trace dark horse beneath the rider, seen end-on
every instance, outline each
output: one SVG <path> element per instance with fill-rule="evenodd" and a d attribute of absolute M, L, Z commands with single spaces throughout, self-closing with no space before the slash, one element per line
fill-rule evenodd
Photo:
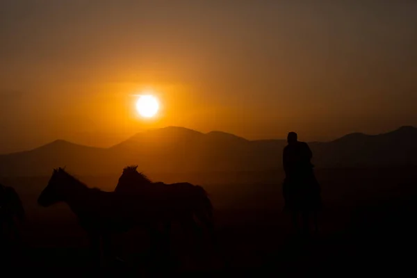
<path fill-rule="evenodd" d="M 317 213 L 322 206 L 320 185 L 313 170 L 301 172 L 292 179 L 285 179 L 283 184 L 285 211 L 290 211 L 295 229 L 299 229 L 298 218 L 302 218 L 302 230 L 309 233 L 309 218 L 313 216 L 314 228 L 317 233 Z"/>

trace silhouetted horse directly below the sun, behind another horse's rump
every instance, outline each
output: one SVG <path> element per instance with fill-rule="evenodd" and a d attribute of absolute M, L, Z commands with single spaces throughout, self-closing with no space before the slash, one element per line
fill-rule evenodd
<path fill-rule="evenodd" d="M 186 231 L 197 231 L 200 222 L 214 239 L 213 206 L 204 188 L 191 183 L 154 183 L 137 168 L 124 168 L 115 193 L 146 196 L 153 206 L 168 211 L 168 218 L 162 220 L 165 232 L 170 231 L 172 221 L 179 222 Z"/>

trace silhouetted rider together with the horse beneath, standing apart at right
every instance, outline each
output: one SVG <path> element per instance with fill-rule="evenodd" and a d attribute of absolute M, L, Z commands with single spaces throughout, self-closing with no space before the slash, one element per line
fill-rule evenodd
<path fill-rule="evenodd" d="M 295 229 L 298 229 L 298 216 L 301 213 L 303 230 L 308 233 L 309 213 L 316 213 L 321 203 L 320 186 L 314 177 L 314 165 L 311 164 L 313 154 L 306 142 L 297 140 L 297 133 L 288 133 L 287 140 L 288 145 L 283 153 L 285 209 L 291 211 Z"/>

